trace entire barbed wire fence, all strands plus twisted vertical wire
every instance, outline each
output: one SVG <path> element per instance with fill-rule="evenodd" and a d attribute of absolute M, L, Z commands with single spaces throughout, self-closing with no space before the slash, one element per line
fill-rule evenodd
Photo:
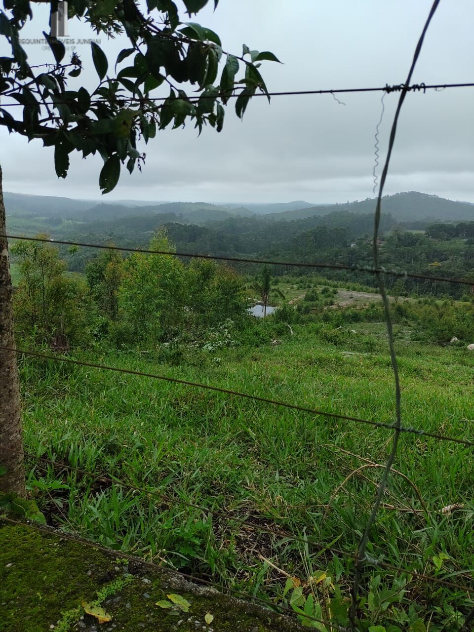
<path fill-rule="evenodd" d="M 110 476 L 108 474 L 104 475 L 102 473 L 92 473 L 91 471 L 73 467 L 68 463 L 61 463 L 59 461 L 55 461 L 54 459 L 45 458 L 43 456 L 39 456 L 38 454 L 30 453 L 28 451 L 23 451 L 22 453 L 20 453 L 18 451 L 12 450 L 8 446 L 0 446 L 1 449 L 7 450 L 7 451 L 9 450 L 13 452 L 18 452 L 19 456 L 20 454 L 23 454 L 23 456 L 33 459 L 37 461 L 40 464 L 40 466 L 44 468 L 47 468 L 47 466 L 54 465 L 58 468 L 62 468 L 63 470 L 75 472 L 76 474 L 86 475 L 87 477 L 97 476 L 97 478 L 100 478 L 101 480 L 105 480 L 111 485 L 118 485 L 119 487 L 122 487 L 124 489 L 130 489 L 130 490 L 133 490 L 134 492 L 143 494 L 146 497 L 159 499 L 159 501 L 164 502 L 168 506 L 173 506 L 175 504 L 178 504 L 180 506 L 197 509 L 198 511 L 203 511 L 209 515 L 212 515 L 214 518 L 219 518 L 220 520 L 224 520 L 224 521 L 233 521 L 234 523 L 244 525 L 246 528 L 253 530 L 255 532 L 263 532 L 263 533 L 267 533 L 268 535 L 272 535 L 273 537 L 286 538 L 286 540 L 300 542 L 300 544 L 304 544 L 308 547 L 311 547 L 312 549 L 317 549 L 322 552 L 328 552 L 328 553 L 334 554 L 335 556 L 341 556 L 348 560 L 353 561 L 355 573 L 354 573 L 353 584 L 351 586 L 351 606 L 349 609 L 349 619 L 351 622 L 350 632 L 358 631 L 357 611 L 358 611 L 358 605 L 360 602 L 360 585 L 362 581 L 363 569 L 365 568 L 365 566 L 369 566 L 372 568 L 384 568 L 390 571 L 401 573 L 407 577 L 415 578 L 420 581 L 432 582 L 437 585 L 446 586 L 446 588 L 451 588 L 453 590 L 459 590 L 460 592 L 474 595 L 474 586 L 471 587 L 467 585 L 461 585 L 459 583 L 445 580 L 445 579 L 436 577 L 434 575 L 418 573 L 417 571 L 414 571 L 413 569 L 407 569 L 407 568 L 403 568 L 399 566 L 394 566 L 392 564 L 384 562 L 383 559 L 375 559 L 374 557 L 368 556 L 367 554 L 367 546 L 369 542 L 370 532 L 372 530 L 372 527 L 375 523 L 375 518 L 382 504 L 382 499 L 386 491 L 387 483 L 389 481 L 389 476 L 394 471 L 392 466 L 398 454 L 399 437 L 401 436 L 401 434 L 405 433 L 405 434 L 413 434 L 419 437 L 430 437 L 437 441 L 452 442 L 454 444 L 463 445 L 466 447 L 474 446 L 474 441 L 471 441 L 470 439 L 466 437 L 452 437 L 452 436 L 441 434 L 441 433 L 428 432 L 426 430 L 423 430 L 423 428 L 405 427 L 402 424 L 401 389 L 400 389 L 399 374 L 398 374 L 398 362 L 397 362 L 397 356 L 396 356 L 396 349 L 394 346 L 391 313 L 390 313 L 390 308 L 389 308 L 389 299 L 387 297 L 387 291 L 384 284 L 384 276 L 424 279 L 424 280 L 432 281 L 432 282 L 437 281 L 437 282 L 446 282 L 446 283 L 455 283 L 455 284 L 465 284 L 465 285 L 471 286 L 471 288 L 474 288 L 474 282 L 469 279 L 453 279 L 453 278 L 446 278 L 446 277 L 441 277 L 441 276 L 418 274 L 418 273 L 413 273 L 413 272 L 408 272 L 408 271 L 385 269 L 384 267 L 380 265 L 380 261 L 379 261 L 378 239 L 379 239 L 379 225 L 380 225 L 380 216 L 381 216 L 382 195 L 383 195 L 384 185 L 386 183 L 387 174 L 389 171 L 389 163 L 391 159 L 392 149 L 394 147 L 394 142 L 396 138 L 399 113 L 401 111 L 401 107 L 403 106 L 403 102 L 406 95 L 408 94 L 408 92 L 415 92 L 415 91 L 420 91 L 420 90 L 423 92 L 426 92 L 426 90 L 429 90 L 429 89 L 439 90 L 442 88 L 473 87 L 474 86 L 474 83 L 456 83 L 456 84 L 447 83 L 444 85 L 443 84 L 425 85 L 424 83 L 413 84 L 413 85 L 411 84 L 411 77 L 413 75 L 413 70 L 415 68 L 416 61 L 422 49 L 425 33 L 427 32 L 430 21 L 432 20 L 432 17 L 434 16 L 434 13 L 438 5 L 439 5 L 439 0 L 434 0 L 434 3 L 432 4 L 432 8 L 430 9 L 430 13 L 427 18 L 427 21 L 425 22 L 425 25 L 423 27 L 422 34 L 420 35 L 420 39 L 418 40 L 418 43 L 416 45 L 415 54 L 413 56 L 410 71 L 408 73 L 405 83 L 402 83 L 400 85 L 395 85 L 392 87 L 390 87 L 389 85 L 386 85 L 386 87 L 383 87 L 383 88 L 301 90 L 301 91 L 293 91 L 293 92 L 270 93 L 270 95 L 332 94 L 334 96 L 334 94 L 344 93 L 344 92 L 383 92 L 382 99 L 386 94 L 389 94 L 390 92 L 400 93 L 398 106 L 396 108 L 396 113 L 394 115 L 394 120 L 392 123 L 386 161 L 384 164 L 384 168 L 382 170 L 382 175 L 380 177 L 380 186 L 379 186 L 377 204 L 376 204 L 376 209 L 375 209 L 374 238 L 373 238 L 374 265 L 372 267 L 357 266 L 357 265 L 327 264 L 324 262 L 319 263 L 319 262 L 272 261 L 272 260 L 264 260 L 264 259 L 253 259 L 253 258 L 227 257 L 227 256 L 202 254 L 202 253 L 167 252 L 167 251 L 161 251 L 161 250 L 151 250 L 151 249 L 146 249 L 146 248 L 133 248 L 133 247 L 126 247 L 126 246 L 82 243 L 78 241 L 50 240 L 50 239 L 42 238 L 39 236 L 23 236 L 23 235 L 16 235 L 16 234 L 4 235 L 4 237 L 8 238 L 8 240 L 27 240 L 27 241 L 35 241 L 35 242 L 40 242 L 40 243 L 48 243 L 49 245 L 52 245 L 52 244 L 70 245 L 70 246 L 81 246 L 81 247 L 86 247 L 86 248 L 116 250 L 120 252 L 152 253 L 152 254 L 157 254 L 157 255 L 171 255 L 174 257 L 183 257 L 183 258 L 204 258 L 204 259 L 226 261 L 226 262 L 240 262 L 240 263 L 246 263 L 246 264 L 283 265 L 283 266 L 288 266 L 288 267 L 300 267 L 300 268 L 306 268 L 306 269 L 347 270 L 349 272 L 360 271 L 360 272 L 367 272 L 369 274 L 374 274 L 375 279 L 377 280 L 377 283 L 379 285 L 379 293 L 382 298 L 382 304 L 384 307 L 384 313 L 386 317 L 387 340 L 389 344 L 389 352 L 390 352 L 390 357 L 391 357 L 392 373 L 394 375 L 394 397 L 395 397 L 396 421 L 393 423 L 384 423 L 384 422 L 379 422 L 377 420 L 370 420 L 370 419 L 359 418 L 355 416 L 337 414 L 331 411 L 317 410 L 314 408 L 310 408 L 308 406 L 303 406 L 301 404 L 293 404 L 293 403 L 289 403 L 288 401 L 279 401 L 276 399 L 264 398 L 262 396 L 257 396 L 254 394 L 250 394 L 248 392 L 233 391 L 231 389 L 225 389 L 222 387 L 212 386 L 210 384 L 203 384 L 200 382 L 191 382 L 189 380 L 176 379 L 174 377 L 169 377 L 167 375 L 157 375 L 157 374 L 152 374 L 148 372 L 140 372 L 140 371 L 129 370 L 129 369 L 120 368 L 120 367 L 111 367 L 111 366 L 107 366 L 107 365 L 99 364 L 99 363 L 75 360 L 74 358 L 70 358 L 66 356 L 39 353 L 37 351 L 31 351 L 28 349 L 0 346 L 0 349 L 3 349 L 3 351 L 7 351 L 9 353 L 15 353 L 17 355 L 36 357 L 45 361 L 53 361 L 53 362 L 58 362 L 58 363 L 70 363 L 73 365 L 95 368 L 97 370 L 119 372 L 122 374 L 135 375 L 138 377 L 147 377 L 147 378 L 156 379 L 156 380 L 164 380 L 165 382 L 180 384 L 186 387 L 193 387 L 197 389 L 207 389 L 209 391 L 221 392 L 222 394 L 226 394 L 233 398 L 251 399 L 253 401 L 270 404 L 271 406 L 277 406 L 280 408 L 300 411 L 300 412 L 308 413 L 310 415 L 326 418 L 328 420 L 336 419 L 336 420 L 341 420 L 348 423 L 353 422 L 356 424 L 370 425 L 375 428 L 384 428 L 387 430 L 394 430 L 394 434 L 392 437 L 391 451 L 387 458 L 386 464 L 384 466 L 381 466 L 383 467 L 384 472 L 378 485 L 377 495 L 375 498 L 374 505 L 372 506 L 372 511 L 367 520 L 367 524 L 365 525 L 365 530 L 362 534 L 362 537 L 360 538 L 360 543 L 358 545 L 358 549 L 356 550 L 356 552 L 348 552 L 343 549 L 337 549 L 336 547 L 333 547 L 332 545 L 327 545 L 324 542 L 318 542 L 317 540 L 313 540 L 312 538 L 297 536 L 294 533 L 288 532 L 287 530 L 281 530 L 279 528 L 270 528 L 269 526 L 258 525 L 248 518 L 247 519 L 238 518 L 236 516 L 232 516 L 230 513 L 219 511 L 219 510 L 213 509 L 212 507 L 206 507 L 200 504 L 186 502 L 181 499 L 177 499 L 176 497 L 170 497 L 167 494 L 164 494 L 162 492 L 152 489 L 152 487 L 139 487 L 138 485 L 133 485 L 123 480 L 119 480 L 119 478 Z M 266 95 L 262 94 L 262 96 L 266 96 Z M 160 98 L 161 97 L 158 97 L 156 100 L 159 100 Z M 13 106 L 19 106 L 19 105 L 20 104 L 3 104 L 2 107 L 13 107 Z M 384 102 L 382 100 L 382 107 L 383 106 L 384 106 Z M 379 125 L 380 125 L 380 121 L 379 121 L 379 124 L 377 125 L 377 135 L 379 133 Z M 376 160 L 378 161 L 378 136 L 376 137 L 376 142 L 377 142 Z M 375 169 L 374 169 L 374 176 L 375 176 Z M 377 183 L 375 181 L 375 185 L 376 184 Z M 9 523 L 14 524 L 14 525 L 20 525 L 20 524 L 25 525 L 25 523 L 23 523 L 22 521 L 21 522 L 15 521 L 12 518 L 8 518 L 6 516 L 3 516 L 1 519 L 8 521 Z M 47 528 L 42 528 L 37 525 L 32 525 L 31 523 L 28 523 L 27 526 L 29 526 L 30 528 L 34 528 L 40 532 L 51 533 L 51 530 L 48 530 Z M 95 542 L 91 542 L 90 540 L 84 540 L 83 538 L 75 537 L 75 535 L 71 535 L 70 533 L 61 532 L 60 535 L 62 538 L 66 538 L 74 542 L 81 542 L 82 544 L 86 546 L 93 546 L 99 549 L 101 548 L 100 545 L 97 545 L 97 543 Z M 137 561 L 140 561 L 140 563 L 144 564 L 145 566 L 150 566 L 150 568 L 153 567 L 156 569 L 160 569 L 162 571 L 162 568 L 157 566 L 153 562 L 145 561 L 142 558 L 135 558 L 133 556 L 128 556 L 123 553 L 121 553 L 121 555 L 124 557 L 127 557 L 128 559 L 136 559 Z M 180 573 L 179 571 L 172 570 L 172 569 L 166 569 L 166 572 L 179 574 L 179 576 L 182 576 L 186 579 L 195 581 L 197 583 L 203 583 L 205 585 L 214 586 L 214 587 L 219 588 L 219 590 L 226 590 L 227 592 L 233 593 L 239 597 L 246 597 L 246 598 L 250 597 L 253 601 L 260 602 L 261 604 L 267 607 L 270 607 L 271 609 L 274 609 L 274 610 L 277 609 L 279 612 L 282 612 L 282 613 L 293 614 L 293 609 L 286 607 L 283 604 L 276 604 L 275 602 L 270 602 L 264 599 L 260 599 L 258 597 L 255 597 L 254 595 L 248 595 L 244 592 L 241 592 L 240 590 L 235 590 L 232 587 L 222 586 L 219 583 L 214 583 L 212 581 L 208 581 L 208 580 L 205 580 L 204 578 L 199 578 L 197 576 Z M 345 628 L 344 626 L 339 626 L 338 624 L 335 624 L 333 621 L 328 621 L 326 619 L 319 619 L 317 617 L 313 617 L 308 614 L 300 614 L 300 616 L 306 618 L 308 621 L 314 621 L 315 623 L 328 626 L 327 629 L 338 630 L 341 632 L 349 632 L 348 628 Z M 473 621 L 474 621 L 474 608 L 467 614 L 466 619 L 460 628 L 461 631 L 467 632 L 470 629 L 470 624 Z"/>

